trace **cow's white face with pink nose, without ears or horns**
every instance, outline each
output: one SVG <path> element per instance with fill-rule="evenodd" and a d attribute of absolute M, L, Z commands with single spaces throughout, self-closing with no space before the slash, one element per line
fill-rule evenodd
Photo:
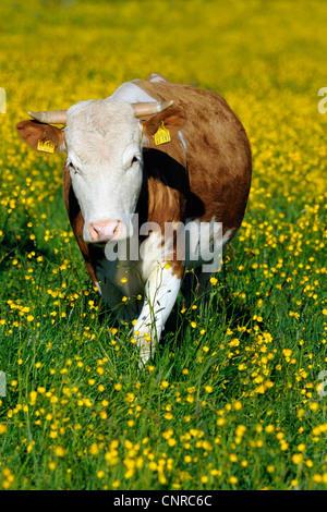
<path fill-rule="evenodd" d="M 68 110 L 64 132 L 85 242 L 130 236 L 143 179 L 142 126 L 132 106 L 78 102 Z"/>

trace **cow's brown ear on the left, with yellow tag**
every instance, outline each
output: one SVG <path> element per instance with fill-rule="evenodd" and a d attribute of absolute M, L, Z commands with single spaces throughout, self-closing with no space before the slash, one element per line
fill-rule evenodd
<path fill-rule="evenodd" d="M 21 121 L 16 125 L 16 130 L 20 137 L 36 151 L 66 151 L 64 131 L 62 129 L 51 124 L 39 123 L 38 121 Z"/>

